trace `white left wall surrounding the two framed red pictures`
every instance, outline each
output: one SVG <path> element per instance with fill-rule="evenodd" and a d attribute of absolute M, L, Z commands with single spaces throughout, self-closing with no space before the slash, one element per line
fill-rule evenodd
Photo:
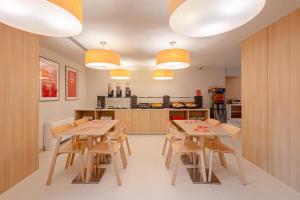
<path fill-rule="evenodd" d="M 40 56 L 56 61 L 60 64 L 60 100 L 39 103 L 40 148 L 42 148 L 43 125 L 45 122 L 73 117 L 74 109 L 86 106 L 86 68 L 43 47 L 40 47 Z M 65 100 L 65 66 L 79 70 L 79 100 Z"/>

